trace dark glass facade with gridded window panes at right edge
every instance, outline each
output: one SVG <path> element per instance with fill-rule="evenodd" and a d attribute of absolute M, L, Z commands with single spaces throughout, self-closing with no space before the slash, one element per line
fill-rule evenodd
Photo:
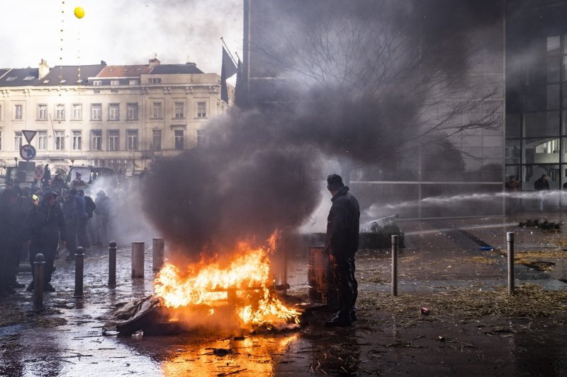
<path fill-rule="evenodd" d="M 522 191 L 567 183 L 566 19 L 567 1 L 507 2 L 505 173 Z"/>

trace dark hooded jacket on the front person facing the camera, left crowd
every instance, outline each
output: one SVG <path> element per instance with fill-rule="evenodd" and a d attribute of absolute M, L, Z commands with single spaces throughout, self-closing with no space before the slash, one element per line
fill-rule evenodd
<path fill-rule="evenodd" d="M 32 244 L 57 244 L 60 237 L 61 240 L 67 240 L 63 211 L 57 202 L 50 207 L 50 196 L 51 193 L 45 194 L 41 204 L 35 206 L 30 237 Z"/>

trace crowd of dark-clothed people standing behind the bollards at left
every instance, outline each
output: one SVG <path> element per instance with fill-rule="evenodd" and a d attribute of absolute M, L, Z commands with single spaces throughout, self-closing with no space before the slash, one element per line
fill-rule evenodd
<path fill-rule="evenodd" d="M 33 272 L 35 255 L 44 255 L 44 290 L 55 291 L 51 277 L 57 257 L 70 260 L 79 246 L 88 250 L 91 245 L 108 245 L 116 214 L 113 200 L 100 189 L 96 199 L 85 195 L 86 185 L 80 181 L 77 174 L 67 190 L 62 177 L 56 175 L 43 181 L 43 189 L 24 190 L 8 184 L 0 193 L 1 296 L 26 286 L 16 279 L 23 258 L 29 257 Z M 27 290 L 33 287 L 32 281 Z"/>

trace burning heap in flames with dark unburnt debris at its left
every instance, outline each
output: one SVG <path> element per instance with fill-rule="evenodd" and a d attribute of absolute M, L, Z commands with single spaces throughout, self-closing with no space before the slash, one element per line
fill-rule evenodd
<path fill-rule="evenodd" d="M 277 289 L 288 286 L 274 286 L 269 277 L 268 252 L 245 243 L 225 266 L 200 262 L 181 272 L 166 264 L 155 279 L 155 296 L 128 303 L 103 329 L 129 334 L 152 333 L 155 327 L 158 332 L 299 327 L 301 312 L 285 306 L 276 295 Z"/>

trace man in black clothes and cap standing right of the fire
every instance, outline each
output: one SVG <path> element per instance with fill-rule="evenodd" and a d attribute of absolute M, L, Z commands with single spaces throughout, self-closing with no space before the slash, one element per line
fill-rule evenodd
<path fill-rule="evenodd" d="M 349 326 L 356 320 L 354 303 L 358 296 L 358 283 L 354 278 L 354 255 L 359 248 L 360 209 L 357 199 L 340 175 L 327 177 L 327 190 L 332 195 L 332 206 L 327 217 L 325 252 L 330 255 L 335 274 L 339 311 L 325 322 L 325 326 Z"/>

